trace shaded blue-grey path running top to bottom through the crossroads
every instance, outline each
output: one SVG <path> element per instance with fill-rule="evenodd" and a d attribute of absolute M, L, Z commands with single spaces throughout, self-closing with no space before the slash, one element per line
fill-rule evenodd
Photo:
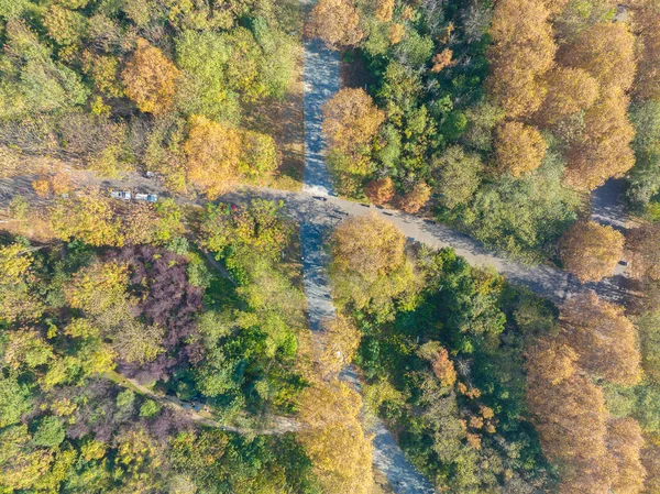
<path fill-rule="evenodd" d="M 304 193 L 322 197 L 328 204 L 332 180 L 324 161 L 324 140 L 321 133 L 323 103 L 341 86 L 339 53 L 328 50 L 319 40 L 305 43 L 305 185 Z M 305 194 L 304 194 L 305 195 Z M 307 196 L 309 198 L 309 196 Z M 312 206 L 316 206 L 312 204 Z M 336 317 L 330 295 L 324 239 L 328 229 L 345 213 L 326 211 L 324 215 L 305 215 L 300 218 L 300 250 L 302 283 L 307 296 L 308 321 L 318 336 L 324 320 Z M 320 221 L 319 221 L 320 220 Z M 315 337 L 316 338 L 316 337 Z M 354 382 L 351 370 L 340 378 Z M 356 384 L 356 383 L 355 383 Z M 376 420 L 370 431 L 374 437 L 374 465 L 400 494 L 432 494 L 433 486 L 406 460 L 404 452 L 383 422 Z M 348 494 L 348 493 L 346 493 Z"/>

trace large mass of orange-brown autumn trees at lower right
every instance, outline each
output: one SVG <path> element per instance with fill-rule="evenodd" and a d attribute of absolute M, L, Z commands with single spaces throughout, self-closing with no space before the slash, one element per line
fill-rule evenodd
<path fill-rule="evenodd" d="M 527 403 L 543 452 L 560 469 L 560 493 L 638 494 L 646 475 L 644 438 L 629 417 L 614 419 L 595 381 L 641 380 L 637 332 L 623 308 L 593 292 L 560 311 L 560 333 L 527 351 Z"/>

